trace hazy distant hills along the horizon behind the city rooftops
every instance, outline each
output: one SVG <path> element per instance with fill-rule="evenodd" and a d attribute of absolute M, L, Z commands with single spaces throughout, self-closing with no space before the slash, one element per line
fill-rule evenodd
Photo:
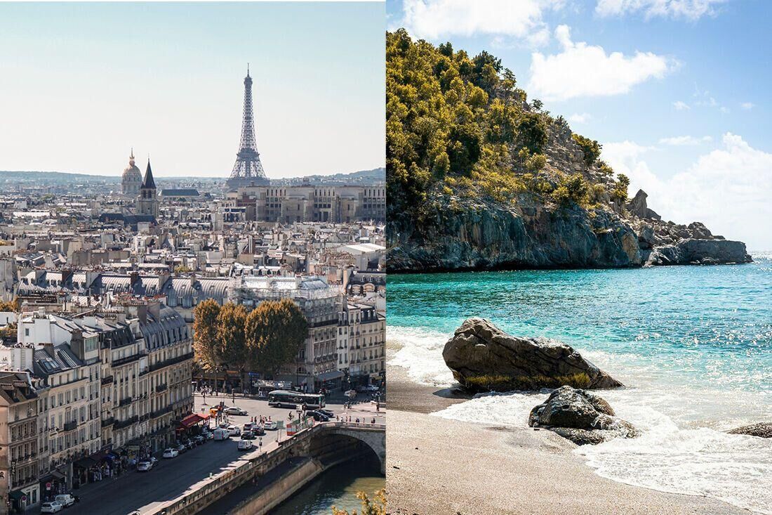
<path fill-rule="evenodd" d="M 386 169 L 377 168 L 351 173 L 336 173 L 331 176 L 308 176 L 307 178 L 310 182 L 316 184 L 372 184 L 374 182 L 385 182 Z M 167 182 L 180 182 L 181 179 L 193 180 L 196 182 L 225 182 L 227 177 L 157 177 L 156 182 L 164 184 Z M 305 178 L 293 177 L 290 179 L 272 179 L 271 183 L 276 185 L 296 184 L 303 179 Z M 8 183 L 14 185 L 34 184 L 36 186 L 66 186 L 86 183 L 109 185 L 120 184 L 120 176 L 90 176 L 85 173 L 0 170 L 0 185 Z"/>

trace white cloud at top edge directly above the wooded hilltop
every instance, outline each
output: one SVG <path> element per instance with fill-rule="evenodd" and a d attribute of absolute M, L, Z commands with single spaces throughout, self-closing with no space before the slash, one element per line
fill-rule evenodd
<path fill-rule="evenodd" d="M 488 34 L 543 44 L 545 36 L 549 39 L 543 12 L 563 4 L 564 0 L 404 0 L 401 25 L 424 39 Z"/>

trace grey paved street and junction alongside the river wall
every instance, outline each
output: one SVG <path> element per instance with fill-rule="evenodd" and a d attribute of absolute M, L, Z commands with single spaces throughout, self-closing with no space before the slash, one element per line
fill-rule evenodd
<path fill-rule="evenodd" d="M 228 406 L 234 405 L 231 397 L 207 396 L 207 404 L 204 404 L 203 397 L 196 395 L 195 409 L 197 412 L 201 412 L 201 408 L 208 410 L 211 404 L 218 404 L 221 400 Z M 229 422 L 235 425 L 242 425 L 252 416 L 270 415 L 272 420 L 286 420 L 289 414 L 289 410 L 283 408 L 269 408 L 267 401 L 236 397 L 235 405 L 248 412 L 244 416 L 230 415 Z M 346 410 L 341 404 L 328 404 L 327 409 L 341 417 L 350 416 L 352 421 L 361 418 L 362 421 L 370 422 L 375 418 L 376 423 L 385 423 L 386 414 L 383 411 L 376 413 L 375 407 L 369 403 L 354 404 L 351 410 Z M 266 436 L 262 437 L 263 452 L 276 448 L 278 436 L 276 431 L 266 432 Z M 280 437 L 284 439 L 286 435 L 282 433 Z M 85 486 L 76 491 L 80 503 L 68 511 L 93 515 L 127 515 L 134 510 L 147 513 L 154 506 L 172 500 L 196 483 L 205 481 L 210 472 L 214 476 L 259 454 L 259 450 L 239 451 L 237 441 L 238 438 L 222 442 L 210 440 L 177 458 L 161 459 L 159 465 L 149 472 L 128 472 L 117 479 L 104 479 L 100 483 Z M 257 445 L 258 440 L 254 443 Z"/>

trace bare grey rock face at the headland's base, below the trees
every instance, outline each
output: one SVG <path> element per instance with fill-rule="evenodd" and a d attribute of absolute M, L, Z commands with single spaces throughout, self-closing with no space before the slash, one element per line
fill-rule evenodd
<path fill-rule="evenodd" d="M 505 206 L 438 196 L 422 220 L 391 223 L 388 269 L 621 268 L 750 262 L 745 244 L 714 236 L 699 222 L 663 222 L 645 202 L 631 210 L 585 210 L 525 198 Z"/>

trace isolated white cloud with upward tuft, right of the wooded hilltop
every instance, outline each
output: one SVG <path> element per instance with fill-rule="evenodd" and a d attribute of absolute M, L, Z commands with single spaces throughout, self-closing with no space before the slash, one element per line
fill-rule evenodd
<path fill-rule="evenodd" d="M 533 53 L 530 66 L 529 88 L 545 101 L 628 93 L 636 84 L 663 77 L 673 64 L 650 52 L 607 54 L 602 46 L 574 43 L 566 25 L 555 29 L 555 38 L 563 51 L 549 56 Z"/>

